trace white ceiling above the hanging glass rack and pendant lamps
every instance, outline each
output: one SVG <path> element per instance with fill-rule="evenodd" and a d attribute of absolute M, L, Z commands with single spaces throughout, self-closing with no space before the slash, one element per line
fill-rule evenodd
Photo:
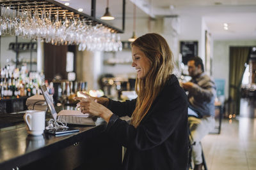
<path fill-rule="evenodd" d="M 90 15 L 92 0 L 70 0 L 70 7 L 83 8 Z M 117 19 L 122 18 L 122 0 L 109 0 L 109 11 Z M 256 0 L 126 0 L 125 18 L 132 17 L 132 6 L 136 3 L 136 17 L 164 17 L 166 15 L 199 16 L 213 39 L 254 39 L 256 40 Z M 96 0 L 96 17 L 105 11 L 106 0 Z M 223 29 L 228 24 L 228 30 Z M 121 25 L 121 24 L 120 24 Z M 115 26 L 115 25 L 114 25 Z M 117 26 L 119 27 L 119 26 Z"/>

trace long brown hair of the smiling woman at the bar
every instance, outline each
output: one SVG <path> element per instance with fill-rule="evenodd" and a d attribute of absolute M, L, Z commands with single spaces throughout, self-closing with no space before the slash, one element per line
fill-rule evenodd
<path fill-rule="evenodd" d="M 137 38 L 132 46 L 137 46 L 145 53 L 152 68 L 145 78 L 136 78 L 135 90 L 138 98 L 132 113 L 131 124 L 138 127 L 172 73 L 174 62 L 168 43 L 159 34 L 145 34 Z"/>

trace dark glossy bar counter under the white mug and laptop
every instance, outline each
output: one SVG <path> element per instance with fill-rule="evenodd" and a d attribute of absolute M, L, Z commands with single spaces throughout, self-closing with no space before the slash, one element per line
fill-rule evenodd
<path fill-rule="evenodd" d="M 30 136 L 25 124 L 0 132 L 0 169 L 120 169 L 122 146 L 104 132 L 106 122 L 95 123 L 58 137 Z"/>

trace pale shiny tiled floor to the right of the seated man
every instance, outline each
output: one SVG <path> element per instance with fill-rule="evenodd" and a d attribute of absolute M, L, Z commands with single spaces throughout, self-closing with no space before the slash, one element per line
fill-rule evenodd
<path fill-rule="evenodd" d="M 202 139 L 209 170 L 256 170 L 256 118 L 223 120 L 221 134 Z"/>

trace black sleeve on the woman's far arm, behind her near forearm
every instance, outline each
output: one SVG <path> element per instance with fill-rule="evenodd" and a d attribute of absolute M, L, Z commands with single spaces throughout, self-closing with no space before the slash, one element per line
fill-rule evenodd
<path fill-rule="evenodd" d="M 118 115 L 118 117 L 129 116 L 131 117 L 136 106 L 136 99 L 131 101 L 127 100 L 125 102 L 113 101 L 109 99 L 108 109 L 113 113 Z"/>

